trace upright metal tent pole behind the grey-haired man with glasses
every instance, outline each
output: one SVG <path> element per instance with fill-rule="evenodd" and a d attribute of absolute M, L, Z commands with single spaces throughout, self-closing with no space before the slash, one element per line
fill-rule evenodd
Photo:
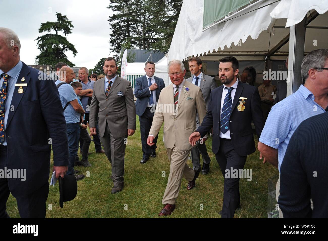
<path fill-rule="evenodd" d="M 306 16 L 301 22 L 291 26 L 289 31 L 287 96 L 295 93 L 302 84 L 301 63 L 304 58 L 305 21 Z"/>

